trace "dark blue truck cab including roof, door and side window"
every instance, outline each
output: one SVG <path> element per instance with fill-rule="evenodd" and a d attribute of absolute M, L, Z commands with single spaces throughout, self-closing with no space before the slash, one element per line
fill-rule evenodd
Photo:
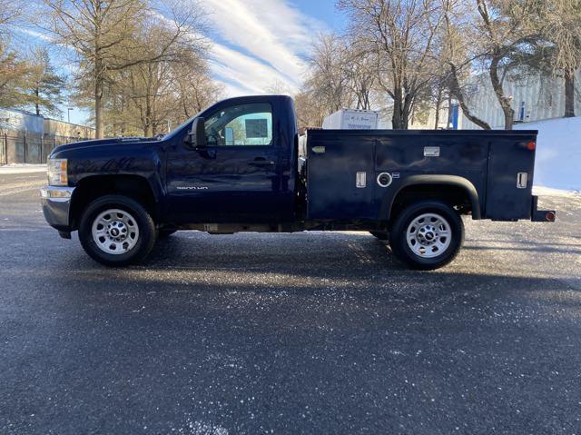
<path fill-rule="evenodd" d="M 296 135 L 290 97 L 241 97 L 205 110 L 162 140 L 165 220 L 294 221 Z"/>

